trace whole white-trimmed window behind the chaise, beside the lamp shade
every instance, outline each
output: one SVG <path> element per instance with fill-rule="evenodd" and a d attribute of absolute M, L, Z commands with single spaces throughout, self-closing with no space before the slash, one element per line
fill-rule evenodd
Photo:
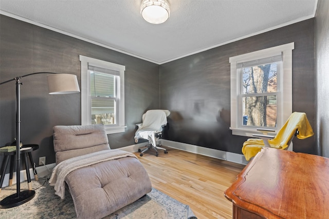
<path fill-rule="evenodd" d="M 81 124 L 103 124 L 107 134 L 124 132 L 125 66 L 80 55 Z"/>

